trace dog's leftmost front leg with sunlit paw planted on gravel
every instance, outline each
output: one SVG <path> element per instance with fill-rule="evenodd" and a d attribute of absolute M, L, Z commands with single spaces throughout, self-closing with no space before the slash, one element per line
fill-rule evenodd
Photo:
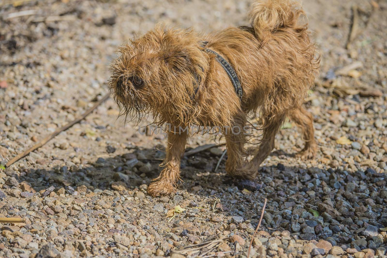
<path fill-rule="evenodd" d="M 180 160 L 184 154 L 187 138 L 187 131 L 168 132 L 166 158 L 161 165 L 164 166 L 164 169 L 149 185 L 148 193 L 150 195 L 160 196 L 175 191 L 178 180 L 180 180 Z"/>

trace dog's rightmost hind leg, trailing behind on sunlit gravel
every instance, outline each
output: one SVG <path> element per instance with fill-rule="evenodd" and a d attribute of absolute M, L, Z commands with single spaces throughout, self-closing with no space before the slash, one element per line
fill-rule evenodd
<path fill-rule="evenodd" d="M 314 139 L 313 116 L 303 107 L 292 110 L 290 118 L 301 128 L 305 147 L 300 151 L 302 158 L 313 158 L 317 151 L 317 143 Z"/>

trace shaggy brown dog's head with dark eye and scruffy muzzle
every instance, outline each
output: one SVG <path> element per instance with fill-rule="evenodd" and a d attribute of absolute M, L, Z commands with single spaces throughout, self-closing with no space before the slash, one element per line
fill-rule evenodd
<path fill-rule="evenodd" d="M 192 31 L 158 25 L 118 48 L 109 87 L 124 114 L 152 113 L 159 122 L 187 116 L 208 66 L 200 43 Z"/>

